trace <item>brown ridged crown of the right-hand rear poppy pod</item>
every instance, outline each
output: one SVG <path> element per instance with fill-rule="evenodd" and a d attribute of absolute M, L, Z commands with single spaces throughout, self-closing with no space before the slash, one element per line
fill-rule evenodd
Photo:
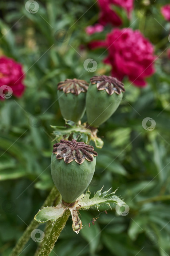
<path fill-rule="evenodd" d="M 112 76 L 93 76 L 90 78 L 91 84 L 97 84 L 97 89 L 106 90 L 109 95 L 113 93 L 120 94 L 121 91 L 125 92 L 124 84 Z"/>

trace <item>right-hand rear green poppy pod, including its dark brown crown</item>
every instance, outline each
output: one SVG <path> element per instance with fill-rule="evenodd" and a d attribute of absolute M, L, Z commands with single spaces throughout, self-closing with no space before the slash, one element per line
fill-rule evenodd
<path fill-rule="evenodd" d="M 111 76 L 94 76 L 90 81 L 86 97 L 87 122 L 90 126 L 98 127 L 120 104 L 114 93 L 122 95 L 125 89 L 122 82 Z"/>

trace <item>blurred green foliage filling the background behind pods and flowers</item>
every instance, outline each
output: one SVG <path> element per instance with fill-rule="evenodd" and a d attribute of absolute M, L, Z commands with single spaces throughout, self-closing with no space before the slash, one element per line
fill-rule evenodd
<path fill-rule="evenodd" d="M 143 2 L 135 1 L 133 18 L 126 20 L 126 27 L 138 18 L 131 27 L 140 29 L 155 45 L 159 56 L 156 72 L 143 89 L 124 79 L 122 103 L 99 128 L 104 146 L 97 150 L 90 184 L 92 193 L 103 185 L 104 190 L 118 188 L 116 195 L 128 204 L 129 214 L 120 216 L 113 206 L 89 228 L 88 223 L 98 211 L 81 212 L 82 231 L 75 234 L 70 219 L 51 255 L 170 254 L 170 66 L 166 53 L 170 24 L 160 12 L 168 1 L 147 1 L 149 5 Z M 48 0 L 38 4 L 39 10 L 32 14 L 23 1 L 0 3 L 0 53 L 23 63 L 27 86 L 22 98 L 0 102 L 2 256 L 9 255 L 53 186 L 50 155 L 54 136 L 50 125 L 64 124 L 56 84 L 66 78 L 88 81 L 110 70 L 102 63 L 107 52 L 99 57 L 101 50 L 90 51 L 87 43 L 105 38 L 111 27 L 91 37 L 84 32 L 98 19 L 97 4 L 92 5 L 90 0 Z M 83 67 L 88 58 L 98 64 L 94 73 Z M 156 122 L 152 131 L 142 127 L 146 117 Z M 43 227 L 39 226 L 41 230 Z M 21 255 L 33 255 L 36 247 L 30 238 Z"/>

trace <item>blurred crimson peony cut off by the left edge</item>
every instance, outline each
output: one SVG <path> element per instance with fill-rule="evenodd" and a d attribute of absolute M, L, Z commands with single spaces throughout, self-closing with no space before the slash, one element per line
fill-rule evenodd
<path fill-rule="evenodd" d="M 6 56 L 0 57 L 0 100 L 10 98 L 12 94 L 17 98 L 21 97 L 25 90 L 23 79 L 24 73 L 20 63 Z"/>

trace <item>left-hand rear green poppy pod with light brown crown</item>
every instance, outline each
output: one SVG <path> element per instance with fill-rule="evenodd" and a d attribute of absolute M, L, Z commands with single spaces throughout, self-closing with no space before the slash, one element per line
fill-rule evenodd
<path fill-rule="evenodd" d="M 63 118 L 77 123 L 84 116 L 87 89 L 88 83 L 76 78 L 58 84 L 58 100 Z"/>

